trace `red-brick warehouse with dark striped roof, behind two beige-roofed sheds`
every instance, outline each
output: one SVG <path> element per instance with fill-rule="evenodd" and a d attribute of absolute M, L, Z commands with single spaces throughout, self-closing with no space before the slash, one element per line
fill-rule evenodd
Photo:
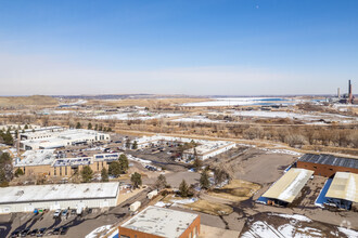
<path fill-rule="evenodd" d="M 336 172 L 358 173 L 358 159 L 306 154 L 297 160 L 297 168 L 312 170 L 315 175 L 332 177 Z"/>

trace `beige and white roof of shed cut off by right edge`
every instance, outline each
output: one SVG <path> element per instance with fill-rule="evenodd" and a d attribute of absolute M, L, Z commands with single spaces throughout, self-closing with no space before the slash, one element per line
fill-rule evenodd
<path fill-rule="evenodd" d="M 358 202 L 358 174 L 336 172 L 325 197 Z"/>

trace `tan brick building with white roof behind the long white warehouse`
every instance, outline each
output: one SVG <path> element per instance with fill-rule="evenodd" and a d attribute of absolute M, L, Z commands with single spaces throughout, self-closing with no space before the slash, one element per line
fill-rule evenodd
<path fill-rule="evenodd" d="M 92 157 L 60 158 L 56 159 L 54 149 L 27 150 L 24 159 L 16 160 L 14 170 L 21 168 L 25 175 L 46 175 L 71 177 L 84 167 L 89 166 L 92 171 L 108 170 L 110 163 L 119 159 L 119 154 L 97 154 Z"/>

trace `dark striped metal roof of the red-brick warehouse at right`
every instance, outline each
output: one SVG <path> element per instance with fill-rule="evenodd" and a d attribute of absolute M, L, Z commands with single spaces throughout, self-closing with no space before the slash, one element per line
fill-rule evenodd
<path fill-rule="evenodd" d="M 358 159 L 336 157 L 324 154 L 322 155 L 306 154 L 302 156 L 298 161 L 358 169 Z"/>

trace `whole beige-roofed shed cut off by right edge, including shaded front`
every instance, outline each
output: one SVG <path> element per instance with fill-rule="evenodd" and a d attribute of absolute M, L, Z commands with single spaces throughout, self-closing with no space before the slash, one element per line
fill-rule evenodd
<path fill-rule="evenodd" d="M 358 174 L 336 172 L 325 198 L 330 206 L 350 210 L 358 202 Z"/>

